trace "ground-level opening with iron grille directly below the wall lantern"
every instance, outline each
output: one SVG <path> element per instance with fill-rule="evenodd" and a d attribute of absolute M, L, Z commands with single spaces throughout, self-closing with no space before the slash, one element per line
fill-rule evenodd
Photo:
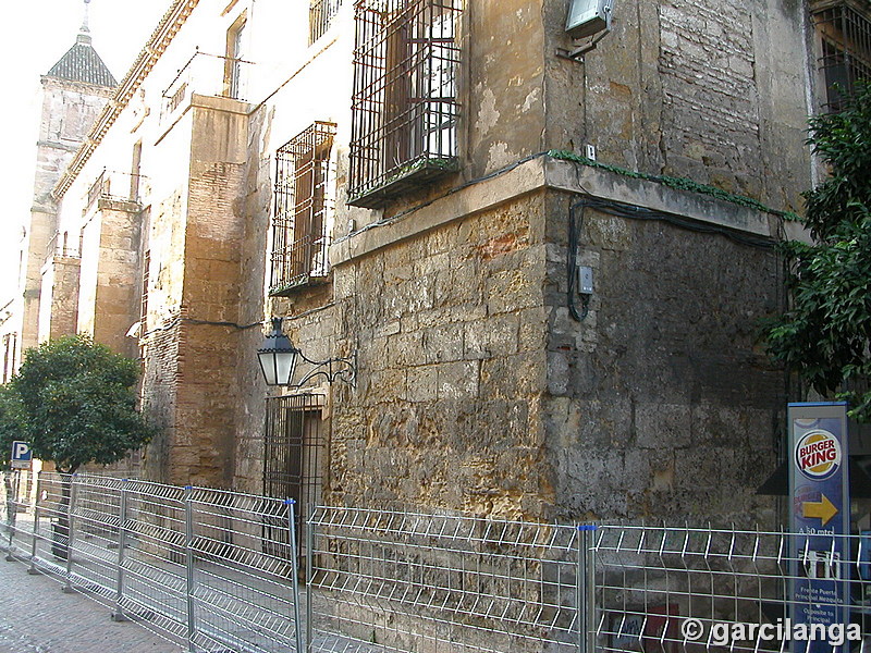
<path fill-rule="evenodd" d="M 296 542 L 299 526 L 321 501 L 326 440 L 322 430 L 322 395 L 270 397 L 266 405 L 263 438 L 263 494 L 296 502 Z M 263 523 L 274 555 L 286 551 L 287 525 L 281 518 Z"/>

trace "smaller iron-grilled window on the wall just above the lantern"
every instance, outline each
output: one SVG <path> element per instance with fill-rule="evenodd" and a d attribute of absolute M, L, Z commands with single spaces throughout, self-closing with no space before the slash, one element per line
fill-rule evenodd
<path fill-rule="evenodd" d="M 275 153 L 270 294 L 323 280 L 333 200 L 329 192 L 330 150 L 335 125 L 316 122 Z"/>

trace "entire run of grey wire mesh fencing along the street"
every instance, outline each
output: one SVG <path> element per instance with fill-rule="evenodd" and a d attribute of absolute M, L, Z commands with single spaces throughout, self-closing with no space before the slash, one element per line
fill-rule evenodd
<path fill-rule="evenodd" d="M 845 627 L 871 620 L 868 535 L 814 552 L 785 532 L 318 507 L 299 543 L 282 500 L 15 480 L 13 558 L 195 652 L 805 651 L 784 628 L 820 609 L 795 599 L 809 579 L 819 595 L 842 588 Z"/>

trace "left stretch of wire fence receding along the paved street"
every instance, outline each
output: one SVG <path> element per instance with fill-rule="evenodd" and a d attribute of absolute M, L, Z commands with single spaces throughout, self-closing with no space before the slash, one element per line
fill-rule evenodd
<path fill-rule="evenodd" d="M 195 652 L 302 651 L 293 502 L 139 480 L 8 479 L 11 558 Z M 35 497 L 35 501 L 34 501 Z"/>

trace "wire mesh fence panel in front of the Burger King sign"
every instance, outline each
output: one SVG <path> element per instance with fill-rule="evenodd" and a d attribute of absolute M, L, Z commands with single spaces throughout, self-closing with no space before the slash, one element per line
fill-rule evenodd
<path fill-rule="evenodd" d="M 841 611 L 842 634 L 850 626 L 863 631 L 871 614 L 868 538 L 822 535 L 820 551 L 796 550 L 794 538 L 734 529 L 600 527 L 597 646 L 665 653 L 793 650 L 796 642 L 789 640 L 801 637 L 794 628 L 822 627 L 825 618 L 813 615 L 826 609 Z M 802 595 L 799 588 L 808 586 L 812 591 Z M 845 650 L 858 650 L 861 642 L 847 644 Z"/>

